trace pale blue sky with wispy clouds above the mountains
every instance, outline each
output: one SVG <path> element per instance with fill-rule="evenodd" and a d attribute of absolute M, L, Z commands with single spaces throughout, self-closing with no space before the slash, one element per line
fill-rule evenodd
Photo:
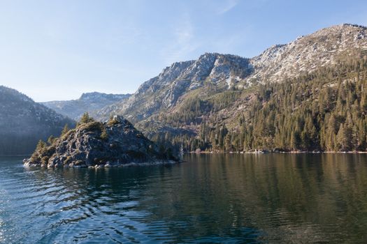
<path fill-rule="evenodd" d="M 367 26 L 367 1 L 0 0 L 0 85 L 36 102 L 134 93 L 173 62 L 343 23 Z"/>

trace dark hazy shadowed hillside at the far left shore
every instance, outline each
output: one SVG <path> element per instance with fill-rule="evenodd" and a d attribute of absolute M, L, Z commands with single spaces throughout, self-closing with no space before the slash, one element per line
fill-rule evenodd
<path fill-rule="evenodd" d="M 75 122 L 24 94 L 0 86 L 0 155 L 28 154 L 39 139 L 59 135 Z"/>

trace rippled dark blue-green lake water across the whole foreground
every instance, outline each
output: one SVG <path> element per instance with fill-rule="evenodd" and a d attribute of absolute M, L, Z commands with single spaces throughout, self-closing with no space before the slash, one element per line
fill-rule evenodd
<path fill-rule="evenodd" d="M 187 155 L 169 167 L 0 158 L 0 243 L 367 243 L 367 155 Z"/>

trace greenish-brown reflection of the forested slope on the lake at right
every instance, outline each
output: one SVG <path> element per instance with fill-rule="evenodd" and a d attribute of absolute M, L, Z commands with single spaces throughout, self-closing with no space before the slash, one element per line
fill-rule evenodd
<path fill-rule="evenodd" d="M 360 214 L 367 203 L 364 160 L 359 154 L 187 155 L 189 166 L 174 168 L 178 178 L 165 190 L 156 183 L 148 190 L 161 206 L 155 218 L 172 222 L 181 236 L 236 236 L 252 227 L 275 240 L 351 235 L 360 241 L 367 224 Z M 188 227 L 176 227 L 177 219 Z"/>

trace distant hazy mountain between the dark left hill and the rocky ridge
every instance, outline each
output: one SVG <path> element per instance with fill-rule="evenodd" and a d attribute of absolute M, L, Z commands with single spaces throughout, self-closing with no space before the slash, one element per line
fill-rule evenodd
<path fill-rule="evenodd" d="M 129 98 L 130 94 L 83 93 L 77 100 L 42 102 L 57 113 L 78 120 L 85 112 L 93 112 L 107 105 Z"/>

